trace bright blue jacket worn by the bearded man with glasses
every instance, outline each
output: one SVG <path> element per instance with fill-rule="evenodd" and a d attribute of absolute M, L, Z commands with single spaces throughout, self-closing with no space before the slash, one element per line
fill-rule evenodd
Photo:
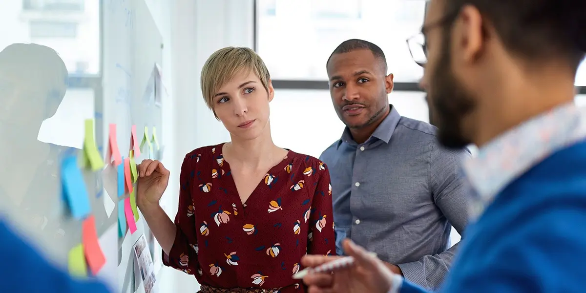
<path fill-rule="evenodd" d="M 586 292 L 586 142 L 513 180 L 465 233 L 441 292 Z"/>

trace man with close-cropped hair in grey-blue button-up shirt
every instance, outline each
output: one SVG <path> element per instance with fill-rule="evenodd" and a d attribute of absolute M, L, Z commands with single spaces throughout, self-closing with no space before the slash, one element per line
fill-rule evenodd
<path fill-rule="evenodd" d="M 336 252 L 350 238 L 407 280 L 437 289 L 458 246 L 449 248 L 451 227 L 462 234 L 468 220 L 458 170 L 469 153 L 442 149 L 434 126 L 389 105 L 393 74 L 380 47 L 347 40 L 326 67 L 346 124 L 320 158 L 332 178 Z"/>

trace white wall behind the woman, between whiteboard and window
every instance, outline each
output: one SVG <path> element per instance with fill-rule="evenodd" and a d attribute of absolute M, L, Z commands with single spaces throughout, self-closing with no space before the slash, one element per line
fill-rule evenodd
<path fill-rule="evenodd" d="M 226 46 L 254 45 L 253 0 L 147 0 L 163 36 L 163 81 L 171 97 L 163 104 L 163 162 L 171 179 L 162 205 L 174 217 L 178 206 L 179 169 L 194 148 L 230 139 L 203 102 L 200 70 L 207 57 Z M 196 292 L 195 277 L 163 267 L 159 292 Z M 187 288 L 187 289 L 186 289 Z"/>

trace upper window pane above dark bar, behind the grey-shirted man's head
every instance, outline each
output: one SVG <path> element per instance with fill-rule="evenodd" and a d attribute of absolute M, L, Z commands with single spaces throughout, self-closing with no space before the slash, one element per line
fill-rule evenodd
<path fill-rule="evenodd" d="M 406 39 L 420 31 L 425 0 L 257 0 L 258 53 L 275 80 L 326 80 L 325 63 L 347 39 L 383 49 L 395 81 L 418 81 Z"/>

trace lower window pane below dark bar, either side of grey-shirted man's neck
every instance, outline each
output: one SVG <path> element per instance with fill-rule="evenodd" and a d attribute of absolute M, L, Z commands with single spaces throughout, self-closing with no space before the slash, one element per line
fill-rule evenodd
<path fill-rule="evenodd" d="M 401 115 L 428 121 L 425 93 L 396 91 L 389 95 L 389 101 Z M 295 122 L 291 113 L 295 113 Z M 278 146 L 319 158 L 323 150 L 338 141 L 343 130 L 328 90 L 275 90 L 271 132 Z"/>

